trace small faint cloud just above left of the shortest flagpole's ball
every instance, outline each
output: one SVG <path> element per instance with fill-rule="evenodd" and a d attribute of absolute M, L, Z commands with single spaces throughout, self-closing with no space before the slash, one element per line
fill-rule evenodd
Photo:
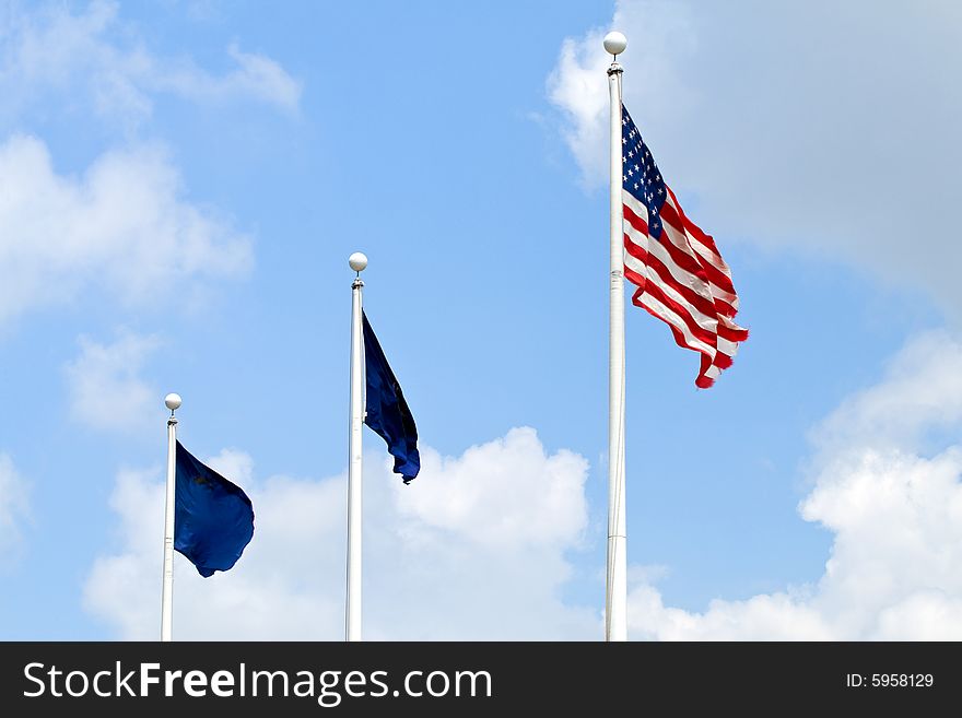
<path fill-rule="evenodd" d="M 80 356 L 66 367 L 72 416 L 96 428 L 133 431 L 156 412 L 160 392 L 140 378 L 156 337 L 121 332 L 112 344 L 81 337 Z"/>

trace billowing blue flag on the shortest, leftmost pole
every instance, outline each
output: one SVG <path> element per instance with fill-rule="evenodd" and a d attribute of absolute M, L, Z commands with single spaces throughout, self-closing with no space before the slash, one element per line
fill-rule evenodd
<path fill-rule="evenodd" d="M 177 442 L 174 548 L 207 578 L 237 563 L 253 535 L 247 494 Z"/>

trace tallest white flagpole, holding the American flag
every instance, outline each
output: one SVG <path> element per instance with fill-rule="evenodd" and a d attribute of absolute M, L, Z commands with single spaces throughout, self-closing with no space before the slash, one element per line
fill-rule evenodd
<path fill-rule="evenodd" d="M 627 40 L 605 36 L 612 56 L 608 68 L 611 97 L 610 325 L 608 333 L 608 572 L 605 587 L 605 640 L 627 640 L 627 560 L 624 521 L 624 229 L 621 178 L 621 66 Z"/>

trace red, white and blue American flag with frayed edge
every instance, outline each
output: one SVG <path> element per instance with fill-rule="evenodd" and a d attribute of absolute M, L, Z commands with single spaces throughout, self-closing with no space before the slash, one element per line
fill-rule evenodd
<path fill-rule="evenodd" d="M 702 355 L 695 385 L 705 389 L 748 339 L 734 321 L 731 272 L 715 240 L 684 215 L 624 105 L 621 113 L 624 275 L 638 287 L 632 303 Z"/>

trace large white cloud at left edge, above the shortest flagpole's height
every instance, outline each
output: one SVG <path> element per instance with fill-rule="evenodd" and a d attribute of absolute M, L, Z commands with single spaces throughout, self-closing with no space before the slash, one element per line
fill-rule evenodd
<path fill-rule="evenodd" d="M 157 148 L 107 152 L 73 177 L 36 138 L 0 144 L 0 322 L 81 292 L 156 306 L 195 280 L 244 274 L 249 239 L 183 193 Z"/>

